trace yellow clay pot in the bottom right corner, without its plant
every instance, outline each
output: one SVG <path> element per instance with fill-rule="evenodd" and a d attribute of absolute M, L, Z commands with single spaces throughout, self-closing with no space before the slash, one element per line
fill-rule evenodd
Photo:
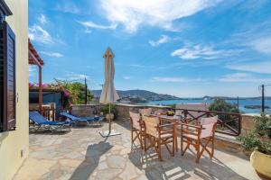
<path fill-rule="evenodd" d="M 271 179 L 271 156 L 254 150 L 250 156 L 250 163 L 257 174 Z"/>

